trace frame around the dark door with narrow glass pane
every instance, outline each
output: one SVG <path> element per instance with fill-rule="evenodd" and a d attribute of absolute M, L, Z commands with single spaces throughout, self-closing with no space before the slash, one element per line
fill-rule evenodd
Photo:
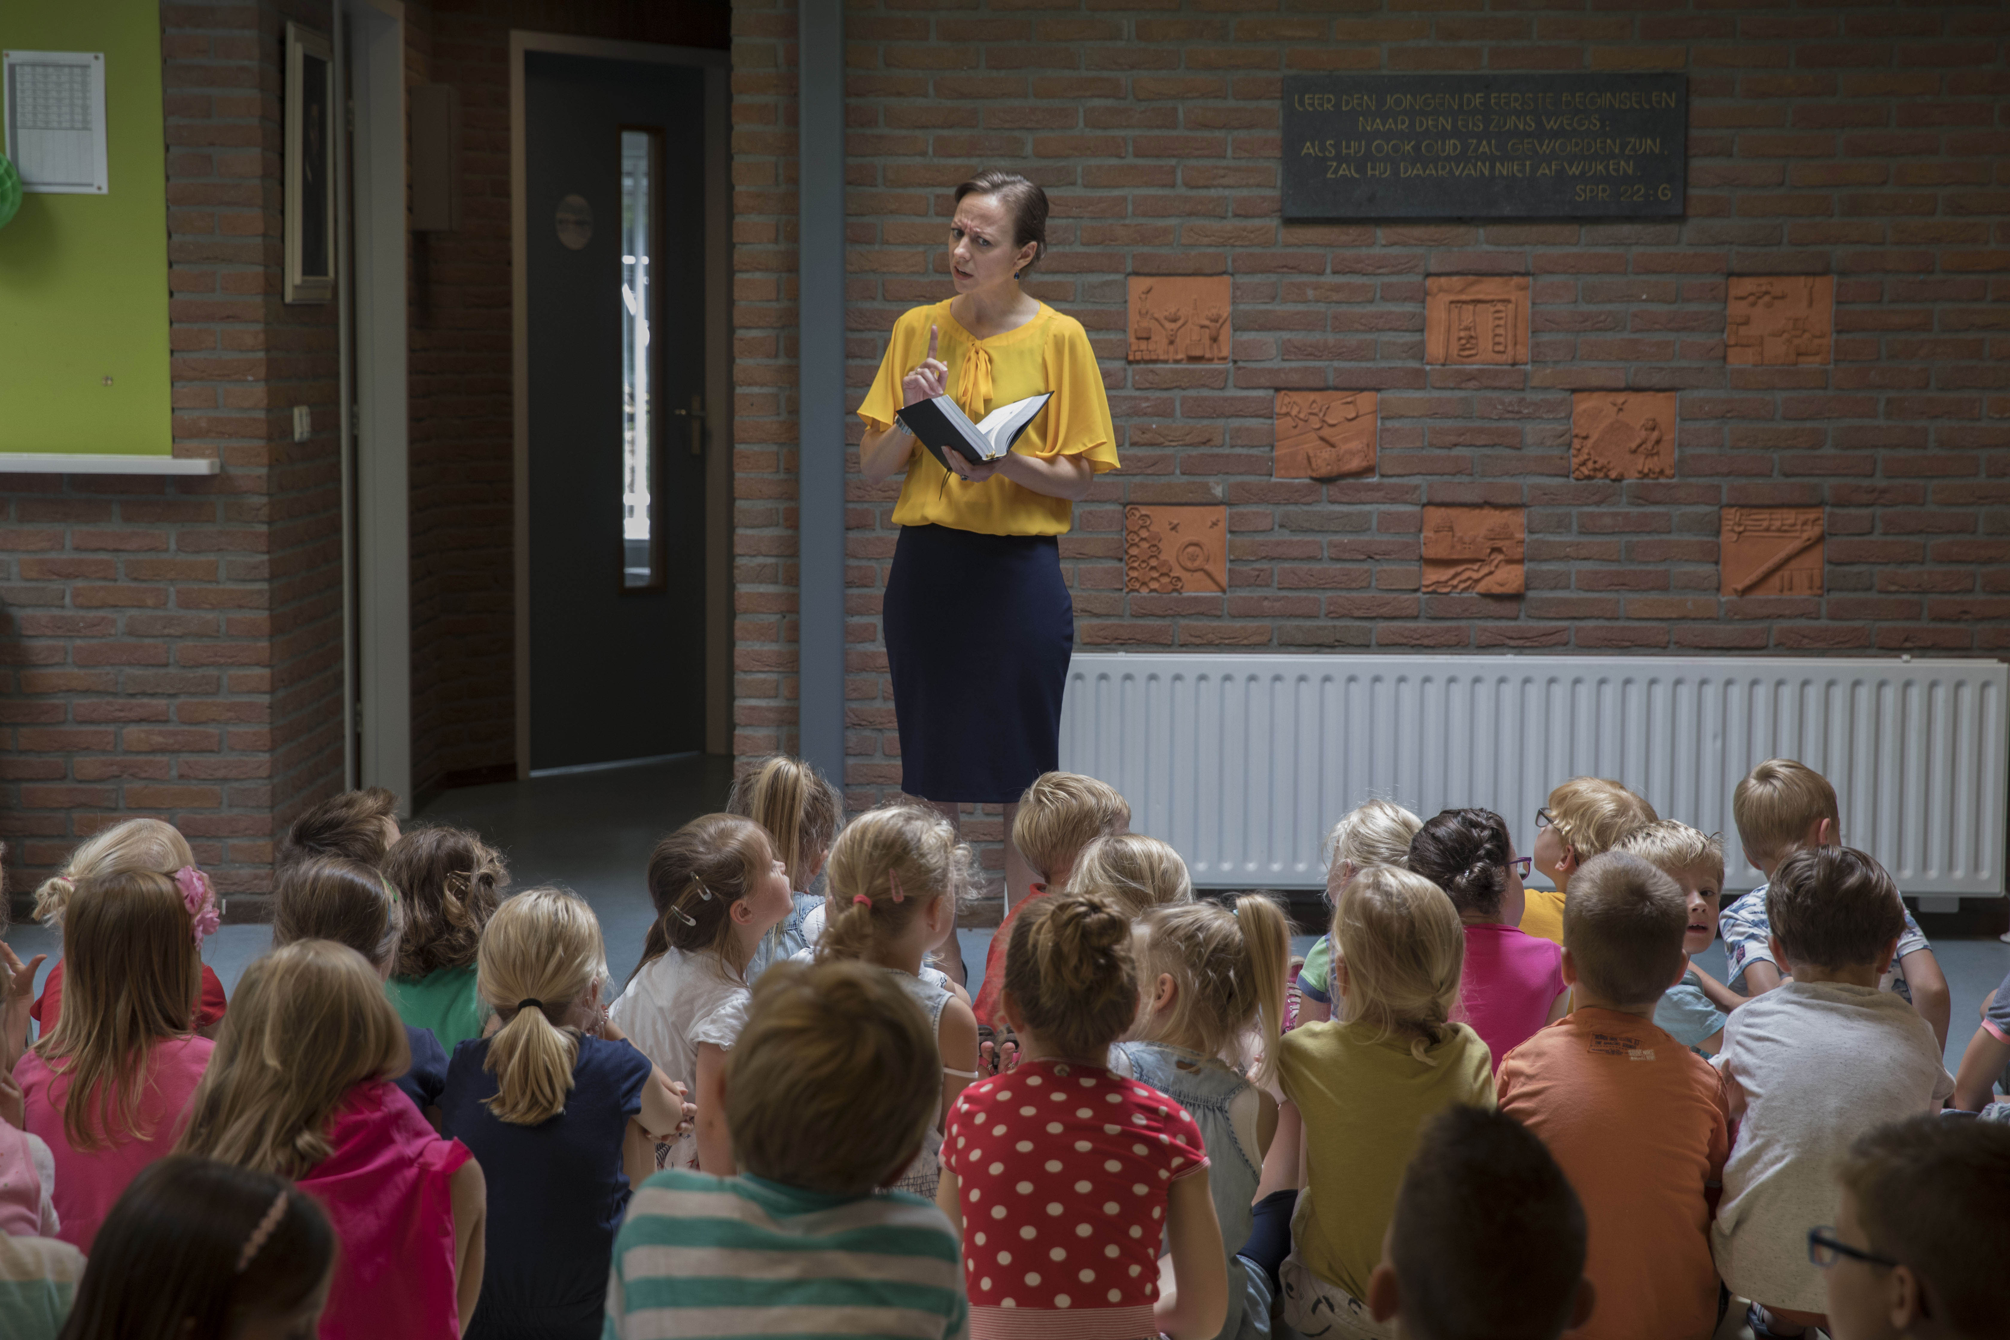
<path fill-rule="evenodd" d="M 732 753 L 732 143 L 730 54 L 559 32 L 509 34 L 511 329 L 515 384 L 517 775 L 531 775 L 531 301 L 525 52 L 699 66 L 706 72 L 706 753 Z"/>

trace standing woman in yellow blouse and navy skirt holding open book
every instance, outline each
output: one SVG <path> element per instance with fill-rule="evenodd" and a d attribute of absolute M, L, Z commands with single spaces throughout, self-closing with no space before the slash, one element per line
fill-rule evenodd
<path fill-rule="evenodd" d="M 900 790 L 955 818 L 1003 804 L 1059 761 L 1061 689 L 1075 607 L 1059 542 L 1073 502 L 1118 468 L 1103 378 L 1081 321 L 1019 287 L 1047 249 L 1047 193 L 983 173 L 957 187 L 949 273 L 957 295 L 900 315 L 872 390 L 858 464 L 872 482 L 907 472 L 882 625 L 900 725 Z M 894 414 L 951 396 L 973 420 L 1053 392 L 1011 454 L 945 470 Z M 1005 844 L 1007 906 L 1033 876 Z"/>

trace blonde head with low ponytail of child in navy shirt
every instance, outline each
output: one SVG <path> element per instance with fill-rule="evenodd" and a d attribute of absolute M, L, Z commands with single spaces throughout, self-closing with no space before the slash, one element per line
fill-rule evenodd
<path fill-rule="evenodd" d="M 502 1021 L 482 1063 L 496 1077 L 486 1107 L 500 1121 L 539 1125 L 565 1111 L 579 1035 L 559 1021 L 607 976 L 605 960 L 593 908 L 563 888 L 527 888 L 488 918 L 476 990 Z"/>

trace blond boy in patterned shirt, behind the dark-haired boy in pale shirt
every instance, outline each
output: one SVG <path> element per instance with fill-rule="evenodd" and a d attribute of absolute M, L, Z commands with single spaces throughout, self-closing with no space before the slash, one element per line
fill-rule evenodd
<path fill-rule="evenodd" d="M 1793 759 L 1767 759 L 1753 767 L 1731 794 L 1731 816 L 1739 826 L 1745 860 L 1767 880 L 1793 852 L 1841 842 L 1835 788 L 1819 771 Z M 1920 922 L 1912 920 L 1903 902 L 1899 914 L 1905 924 L 1897 940 L 1895 968 L 1885 984 L 1897 984 L 1920 1011 L 1920 1019 L 1934 1025 L 1934 1037 L 1946 1047 L 1952 1009 L 1948 978 L 1940 972 L 1940 960 L 1934 958 Z M 1719 926 L 1725 934 L 1725 984 L 1747 996 L 1779 986 L 1783 970 L 1767 948 L 1771 936 L 1767 884 L 1725 908 Z"/>

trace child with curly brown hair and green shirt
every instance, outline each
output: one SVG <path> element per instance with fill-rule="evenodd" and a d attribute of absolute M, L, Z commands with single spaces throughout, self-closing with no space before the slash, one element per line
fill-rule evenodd
<path fill-rule="evenodd" d="M 476 834 L 428 826 L 398 838 L 384 856 L 384 878 L 404 910 L 384 990 L 398 1017 L 430 1029 L 450 1057 L 488 1023 L 474 990 L 474 950 L 509 888 L 509 866 Z"/>

